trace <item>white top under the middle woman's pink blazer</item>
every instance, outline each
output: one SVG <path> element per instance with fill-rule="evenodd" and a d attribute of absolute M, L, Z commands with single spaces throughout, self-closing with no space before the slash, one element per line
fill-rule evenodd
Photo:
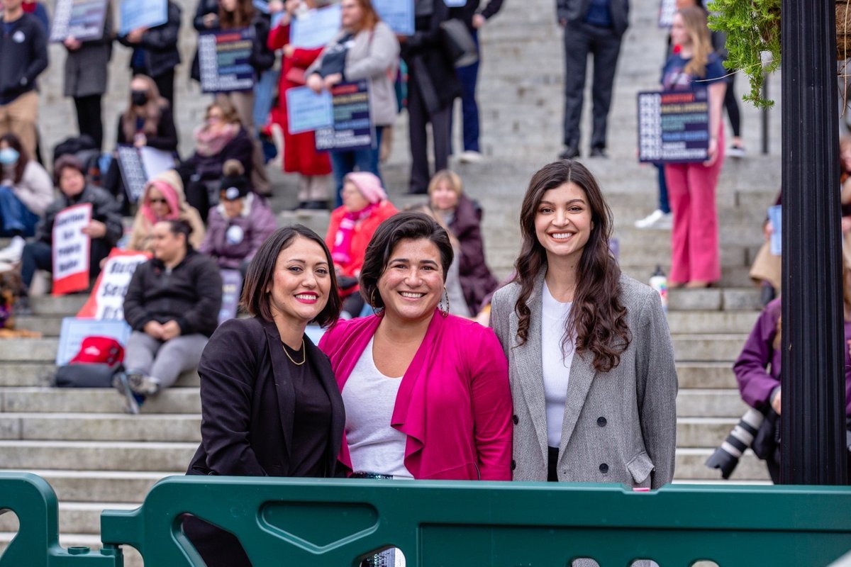
<path fill-rule="evenodd" d="M 413 479 L 404 463 L 408 436 L 390 425 L 402 378 L 382 374 L 375 367 L 372 348 L 369 339 L 342 392 L 351 470 Z"/>

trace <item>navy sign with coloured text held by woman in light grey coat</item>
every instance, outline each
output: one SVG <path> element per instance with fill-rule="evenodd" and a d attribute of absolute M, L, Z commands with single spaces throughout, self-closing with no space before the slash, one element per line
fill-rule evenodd
<path fill-rule="evenodd" d="M 316 131 L 317 150 L 371 148 L 375 127 L 369 115 L 369 82 L 340 82 L 331 89 L 334 125 Z"/>

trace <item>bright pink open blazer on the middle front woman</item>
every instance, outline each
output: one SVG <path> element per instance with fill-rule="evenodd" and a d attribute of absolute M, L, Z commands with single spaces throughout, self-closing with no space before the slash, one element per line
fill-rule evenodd
<path fill-rule="evenodd" d="M 340 391 L 379 323 L 374 315 L 340 320 L 319 342 Z M 435 311 L 391 426 L 408 436 L 404 462 L 414 479 L 511 480 L 511 388 L 494 332 Z M 345 433 L 339 458 L 351 471 Z"/>

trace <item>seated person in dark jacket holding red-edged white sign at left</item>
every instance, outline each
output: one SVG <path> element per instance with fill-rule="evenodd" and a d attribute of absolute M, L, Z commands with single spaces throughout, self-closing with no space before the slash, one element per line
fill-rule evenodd
<path fill-rule="evenodd" d="M 75 205 L 91 204 L 91 221 L 83 228 L 88 235 L 89 281 L 100 274 L 100 261 L 109 255 L 112 247 L 124 233 L 118 203 L 106 190 L 86 184 L 83 164 L 74 156 L 61 156 L 54 164 L 54 182 L 59 185 L 60 196 L 47 208 L 44 220 L 36 230 L 36 239 L 24 247 L 20 275 L 24 288 L 21 292 L 19 312 L 29 309 L 27 290 L 36 269 L 53 271 L 54 220 L 60 211 Z"/>

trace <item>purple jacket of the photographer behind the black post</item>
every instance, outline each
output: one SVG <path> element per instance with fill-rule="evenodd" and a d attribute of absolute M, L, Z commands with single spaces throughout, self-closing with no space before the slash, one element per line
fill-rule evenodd
<path fill-rule="evenodd" d="M 762 309 L 757 324 L 753 326 L 751 335 L 745 341 L 745 348 L 733 365 L 742 400 L 757 410 L 766 409 L 774 388 L 780 387 L 781 352 L 780 349 L 774 349 L 779 320 L 780 298 L 777 298 Z M 844 346 L 845 414 L 851 416 L 851 354 L 848 354 L 848 340 L 851 340 L 851 321 L 847 320 Z"/>

